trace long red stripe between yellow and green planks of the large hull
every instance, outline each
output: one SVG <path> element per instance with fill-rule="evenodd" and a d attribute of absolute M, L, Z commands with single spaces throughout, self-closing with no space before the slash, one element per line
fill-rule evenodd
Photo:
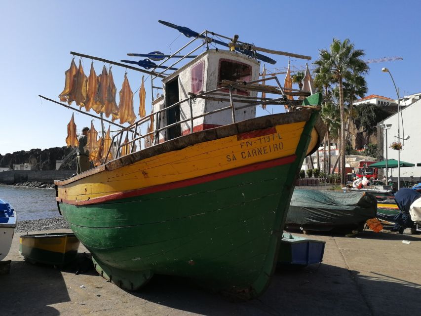
<path fill-rule="evenodd" d="M 288 164 L 288 163 L 294 162 L 296 158 L 297 158 L 296 155 L 291 155 L 288 157 L 277 158 L 277 159 L 263 161 L 263 162 L 256 162 L 247 166 L 238 167 L 235 169 L 230 169 L 230 170 L 221 171 L 217 173 L 207 174 L 207 175 L 192 178 L 192 179 L 165 183 L 165 184 L 161 184 L 161 185 L 157 185 L 153 187 L 137 189 L 137 190 L 132 190 L 132 191 L 113 193 L 108 196 L 95 197 L 89 200 L 77 201 L 77 200 L 62 199 L 59 197 L 57 197 L 56 199 L 58 202 L 64 202 L 64 203 L 73 204 L 73 205 L 99 204 L 99 203 L 109 202 L 112 200 L 117 200 L 117 199 L 126 198 L 126 197 L 137 197 L 137 196 L 142 196 L 142 195 L 161 192 L 161 191 L 180 189 L 180 188 L 184 188 L 184 187 L 188 187 L 188 186 L 192 186 L 196 184 L 210 182 L 213 180 L 227 178 L 227 177 L 234 176 L 241 173 L 247 173 L 247 172 L 262 170 L 262 169 L 279 166 L 283 164 Z"/>

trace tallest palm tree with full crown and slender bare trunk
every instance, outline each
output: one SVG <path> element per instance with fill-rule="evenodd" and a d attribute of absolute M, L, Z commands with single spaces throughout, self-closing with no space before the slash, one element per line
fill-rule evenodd
<path fill-rule="evenodd" d="M 343 42 L 333 39 L 329 50 L 321 49 L 319 59 L 314 63 L 319 66 L 319 73 L 330 73 L 335 82 L 339 84 L 339 106 L 341 111 L 341 170 L 345 170 L 345 113 L 344 113 L 344 79 L 354 74 L 364 74 L 368 71 L 367 64 L 361 59 L 364 51 L 355 49 L 348 39 Z M 341 184 L 345 185 L 346 175 L 342 172 Z"/>

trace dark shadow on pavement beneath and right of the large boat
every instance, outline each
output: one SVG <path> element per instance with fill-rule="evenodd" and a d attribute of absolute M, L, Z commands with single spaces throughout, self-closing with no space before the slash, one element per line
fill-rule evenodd
<path fill-rule="evenodd" d="M 247 302 L 231 303 L 186 279 L 154 276 L 131 295 L 170 308 L 207 316 L 219 315 L 408 315 L 419 313 L 421 286 L 388 276 L 321 264 L 298 271 L 278 268 L 268 290 Z M 394 298 L 402 297 L 402 303 Z M 382 302 L 383 298 L 383 302 Z M 393 299 L 392 299 L 393 298 Z M 386 302 L 388 301 L 388 302 Z"/>

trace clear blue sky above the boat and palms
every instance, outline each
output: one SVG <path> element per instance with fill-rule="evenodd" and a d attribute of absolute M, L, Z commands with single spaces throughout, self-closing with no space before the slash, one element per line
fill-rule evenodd
<path fill-rule="evenodd" d="M 1 1 L 0 12 L 2 155 L 65 146 L 72 111 L 41 101 L 38 94 L 58 100 L 71 50 L 119 61 L 127 59 L 129 52 L 167 53 L 187 42 L 157 20 L 199 32 L 239 34 L 240 40 L 257 46 L 310 55 L 313 60 L 318 49 L 328 48 L 333 38 L 349 38 L 356 48 L 365 50 L 366 59 L 403 57 L 401 61 L 370 64 L 369 94 L 396 97 L 382 67 L 390 70 L 401 94 L 421 92 L 420 1 L 26 0 Z M 287 57 L 270 57 L 278 61 L 275 67 L 288 63 Z M 91 61 L 83 62 L 88 74 Z M 291 64 L 304 65 L 305 61 L 292 60 Z M 94 65 L 99 74 L 102 63 Z M 124 69 L 115 66 L 113 74 L 118 96 Z M 141 74 L 129 71 L 128 78 L 136 90 Z M 149 113 L 149 81 L 146 91 Z M 137 100 L 135 96 L 135 108 Z M 78 129 L 90 125 L 90 118 L 82 114 L 75 114 L 75 120 Z M 100 128 L 98 121 L 94 124 Z"/>

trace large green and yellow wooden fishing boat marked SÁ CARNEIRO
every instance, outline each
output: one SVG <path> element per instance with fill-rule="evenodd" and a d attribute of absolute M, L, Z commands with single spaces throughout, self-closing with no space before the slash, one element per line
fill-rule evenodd
<path fill-rule="evenodd" d="M 319 94 L 288 100 L 309 93 L 260 84 L 259 69 L 249 56 L 207 49 L 162 80 L 153 114 L 114 136 L 111 159 L 55 181 L 59 211 L 101 276 L 129 290 L 154 274 L 242 298 L 267 288 L 294 181 L 324 127 Z M 259 104 L 289 112 L 256 118 Z M 135 151 L 141 138 L 151 143 Z"/>

